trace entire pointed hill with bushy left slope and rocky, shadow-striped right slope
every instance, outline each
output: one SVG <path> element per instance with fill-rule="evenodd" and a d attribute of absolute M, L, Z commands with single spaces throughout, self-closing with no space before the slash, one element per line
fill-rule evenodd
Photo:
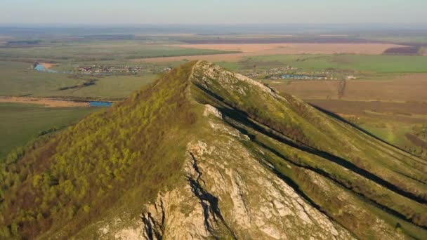
<path fill-rule="evenodd" d="M 427 162 L 210 62 L 0 165 L 0 237 L 421 239 Z"/>

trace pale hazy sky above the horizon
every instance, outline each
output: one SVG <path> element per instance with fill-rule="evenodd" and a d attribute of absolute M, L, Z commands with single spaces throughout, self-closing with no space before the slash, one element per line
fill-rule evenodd
<path fill-rule="evenodd" d="M 427 23 L 427 0 L 0 0 L 0 23 Z"/>

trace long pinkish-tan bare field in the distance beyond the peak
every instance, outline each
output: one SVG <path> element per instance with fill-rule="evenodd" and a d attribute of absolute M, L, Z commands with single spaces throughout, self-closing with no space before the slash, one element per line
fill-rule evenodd
<path fill-rule="evenodd" d="M 388 48 L 403 47 L 395 44 L 175 44 L 181 48 L 211 49 L 221 51 L 242 51 L 242 53 L 227 53 L 216 55 L 194 55 L 166 58 L 135 59 L 136 62 L 176 62 L 187 60 L 208 60 L 211 62 L 237 62 L 247 56 L 276 55 L 276 54 L 335 54 L 355 53 L 379 55 Z"/>

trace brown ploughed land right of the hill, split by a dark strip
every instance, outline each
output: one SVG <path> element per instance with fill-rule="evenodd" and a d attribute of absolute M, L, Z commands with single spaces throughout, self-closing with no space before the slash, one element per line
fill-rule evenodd
<path fill-rule="evenodd" d="M 303 99 L 337 99 L 339 81 L 292 81 L 271 84 L 279 91 Z M 390 81 L 349 80 L 342 100 L 427 102 L 427 74 L 395 76 Z"/>

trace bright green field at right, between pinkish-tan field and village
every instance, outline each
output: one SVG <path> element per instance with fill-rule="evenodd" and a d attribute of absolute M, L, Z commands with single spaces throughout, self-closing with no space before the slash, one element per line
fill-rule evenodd
<path fill-rule="evenodd" d="M 240 65 L 263 62 L 280 62 L 300 69 L 350 69 L 378 74 L 427 72 L 427 57 L 400 55 L 263 55 L 247 58 Z"/>

